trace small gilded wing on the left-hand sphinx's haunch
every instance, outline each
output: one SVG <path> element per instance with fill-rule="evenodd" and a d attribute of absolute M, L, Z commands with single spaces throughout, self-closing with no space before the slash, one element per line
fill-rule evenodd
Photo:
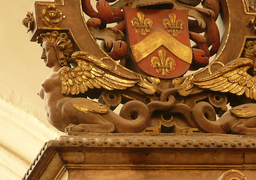
<path fill-rule="evenodd" d="M 107 113 L 108 108 L 99 102 L 83 98 L 82 102 L 72 103 L 72 105 L 82 112 Z"/>

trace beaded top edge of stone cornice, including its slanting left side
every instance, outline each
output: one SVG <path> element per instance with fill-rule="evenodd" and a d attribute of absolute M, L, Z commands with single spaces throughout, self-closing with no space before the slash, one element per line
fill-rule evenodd
<path fill-rule="evenodd" d="M 70 134 L 70 133 L 69 133 Z M 232 153 L 254 153 L 256 150 L 256 136 L 246 135 L 220 135 L 220 134 L 146 134 L 146 133 L 83 133 L 81 136 L 61 136 L 57 139 L 50 140 L 44 144 L 35 160 L 30 165 L 28 171 L 23 179 L 27 179 L 30 172 L 38 163 L 38 160 L 48 149 L 48 154 L 54 149 L 61 151 L 97 151 L 114 149 L 145 149 L 148 151 L 162 151 L 161 149 L 168 149 L 167 151 L 225 151 Z M 102 150 L 100 150 L 103 148 Z"/>

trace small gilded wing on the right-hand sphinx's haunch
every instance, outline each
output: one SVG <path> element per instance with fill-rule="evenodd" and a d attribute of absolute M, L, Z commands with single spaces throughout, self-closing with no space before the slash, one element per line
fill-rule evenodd
<path fill-rule="evenodd" d="M 253 117 L 256 116 L 256 104 L 243 104 L 236 106 L 230 112 L 238 117 Z"/>

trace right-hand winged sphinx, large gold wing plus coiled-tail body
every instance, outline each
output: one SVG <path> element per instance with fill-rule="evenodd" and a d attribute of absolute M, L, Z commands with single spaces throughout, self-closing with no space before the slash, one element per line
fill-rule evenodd
<path fill-rule="evenodd" d="M 251 51 L 245 50 L 246 57 L 250 59 L 235 59 L 210 76 L 194 80 L 193 83 L 214 91 L 245 94 L 247 98 L 256 100 L 255 46 Z M 255 103 L 235 106 L 217 121 L 214 109 L 207 102 L 196 104 L 193 113 L 196 124 L 204 132 L 256 135 Z"/>

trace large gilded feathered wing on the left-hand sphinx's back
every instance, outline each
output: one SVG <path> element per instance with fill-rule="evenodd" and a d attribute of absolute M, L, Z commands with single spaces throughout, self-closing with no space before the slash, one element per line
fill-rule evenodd
<path fill-rule="evenodd" d="M 78 66 L 74 70 L 69 67 L 60 69 L 62 94 L 84 93 L 88 88 L 126 89 L 140 80 L 139 76 L 121 73 L 84 51 L 73 53 L 71 58 Z"/>

